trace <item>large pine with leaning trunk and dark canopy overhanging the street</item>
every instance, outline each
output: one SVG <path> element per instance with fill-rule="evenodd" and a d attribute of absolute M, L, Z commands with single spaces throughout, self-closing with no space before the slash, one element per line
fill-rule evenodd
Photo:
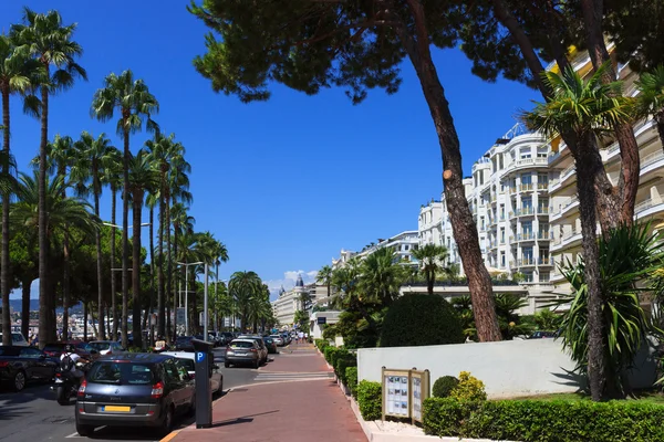
<path fill-rule="evenodd" d="M 236 0 L 193 2 L 189 11 L 220 39 L 206 38 L 207 53 L 194 64 L 217 92 L 242 102 L 268 99 L 269 82 L 307 94 L 331 85 L 346 87 L 353 103 L 380 87 L 395 93 L 400 64 L 407 56 L 438 135 L 445 198 L 457 236 L 466 239 L 459 253 L 475 299 L 481 340 L 500 340 L 494 312 L 491 280 L 484 266 L 477 228 L 463 186 L 460 143 L 448 102 L 432 60 L 430 44 L 454 45 L 445 8 L 437 2 L 311 2 L 266 1 L 248 6 Z"/>

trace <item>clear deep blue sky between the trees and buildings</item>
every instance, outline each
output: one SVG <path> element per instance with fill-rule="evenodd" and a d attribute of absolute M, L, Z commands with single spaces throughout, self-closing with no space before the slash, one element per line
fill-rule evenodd
<path fill-rule="evenodd" d="M 131 69 L 145 80 L 160 103 L 157 122 L 187 149 L 196 229 L 214 232 L 228 248 L 220 278 L 253 270 L 271 287 L 292 285 L 298 272 L 309 281 L 342 248 L 417 229 L 419 206 L 440 194 L 436 133 L 407 63 L 397 94 L 375 91 L 359 106 L 340 88 L 310 97 L 280 85 L 269 102 L 247 105 L 215 94 L 194 70 L 207 30 L 186 11 L 188 1 L 6 3 L 2 30 L 20 21 L 23 4 L 58 9 L 65 23 L 79 23 L 75 40 L 85 51 L 80 63 L 89 81 L 51 99 L 50 137 L 105 131 L 121 146 L 115 123 L 90 117 L 92 96 L 110 72 Z M 540 96 L 517 83 L 480 81 L 458 50 L 434 56 L 468 175 L 515 115 Z M 25 170 L 38 152 L 39 123 L 21 114 L 18 98 L 11 109 L 12 150 Z M 132 150 L 147 137 L 134 136 Z M 105 220 L 110 206 L 106 196 Z"/>

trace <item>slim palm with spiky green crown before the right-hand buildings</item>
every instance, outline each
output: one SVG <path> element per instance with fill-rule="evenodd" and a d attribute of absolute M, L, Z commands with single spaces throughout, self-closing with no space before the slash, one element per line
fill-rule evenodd
<path fill-rule="evenodd" d="M 604 170 L 596 170 L 592 148 L 600 134 L 612 130 L 618 124 L 631 118 L 629 98 L 622 96 L 621 84 L 602 84 L 605 67 L 598 70 L 584 82 L 571 67 L 562 75 L 547 72 L 543 81 L 552 91 L 549 103 L 539 103 L 523 119 L 531 128 L 553 138 L 569 133 L 577 138 L 571 150 L 577 164 L 577 188 L 581 218 L 584 276 L 588 283 L 588 372 L 592 399 L 601 400 L 606 382 L 604 362 L 604 325 L 602 322 L 602 282 L 600 278 L 599 248 L 596 239 L 596 192 L 594 178 Z M 599 161 L 601 164 L 601 161 Z"/>

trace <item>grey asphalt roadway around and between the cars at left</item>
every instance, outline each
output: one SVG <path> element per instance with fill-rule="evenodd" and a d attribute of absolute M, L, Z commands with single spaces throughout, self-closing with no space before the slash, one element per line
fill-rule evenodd
<path fill-rule="evenodd" d="M 224 373 L 224 389 L 255 382 L 257 370 L 249 368 L 224 368 L 225 349 L 215 350 L 215 361 Z M 270 355 L 273 357 L 273 355 Z M 221 364 L 219 364 L 221 362 Z M 69 407 L 59 406 L 48 385 L 31 385 L 20 393 L 0 391 L 0 441 L 39 442 L 84 440 L 76 433 L 74 401 Z M 188 425 L 194 420 L 176 422 Z M 95 441 L 157 441 L 154 430 L 101 428 Z"/>

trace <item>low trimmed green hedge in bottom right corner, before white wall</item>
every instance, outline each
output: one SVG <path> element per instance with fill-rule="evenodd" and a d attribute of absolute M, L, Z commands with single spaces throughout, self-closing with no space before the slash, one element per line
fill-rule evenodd
<path fill-rule="evenodd" d="M 424 402 L 424 431 L 438 436 L 523 442 L 664 440 L 664 406 L 633 401 Z"/>

